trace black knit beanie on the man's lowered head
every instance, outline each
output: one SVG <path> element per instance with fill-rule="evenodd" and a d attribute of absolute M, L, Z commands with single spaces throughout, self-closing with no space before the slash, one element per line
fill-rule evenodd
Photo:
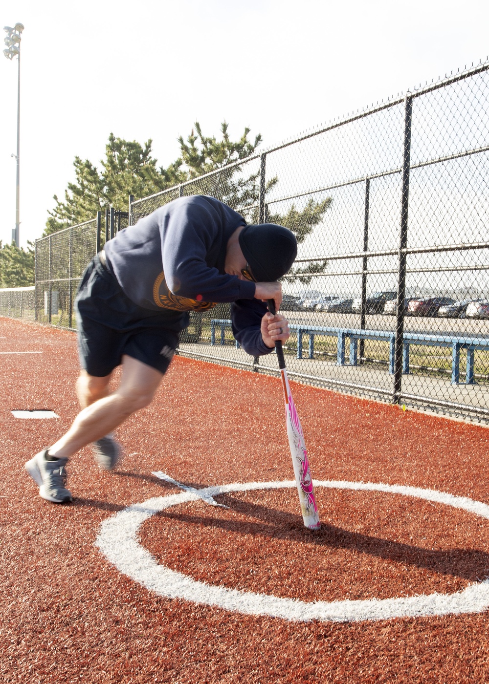
<path fill-rule="evenodd" d="M 256 282 L 278 280 L 288 272 L 297 257 L 294 233 L 275 223 L 244 226 L 239 241 Z"/>

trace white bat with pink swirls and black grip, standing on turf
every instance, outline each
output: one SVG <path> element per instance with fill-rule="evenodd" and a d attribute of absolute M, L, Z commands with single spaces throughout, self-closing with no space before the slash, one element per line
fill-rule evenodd
<path fill-rule="evenodd" d="M 268 301 L 268 308 L 271 313 L 275 314 L 275 302 L 273 300 Z M 305 527 L 308 527 L 308 529 L 319 529 L 321 523 L 319 521 L 316 497 L 314 496 L 308 451 L 305 448 L 301 421 L 299 420 L 299 415 L 297 415 L 294 399 L 292 399 L 292 393 L 290 392 L 284 350 L 279 340 L 275 342 L 275 351 L 277 352 L 282 384 L 284 386 L 287 436 L 294 466 L 295 481 L 297 482 L 297 491 L 299 492 L 299 501 L 301 502 L 302 517 Z"/>

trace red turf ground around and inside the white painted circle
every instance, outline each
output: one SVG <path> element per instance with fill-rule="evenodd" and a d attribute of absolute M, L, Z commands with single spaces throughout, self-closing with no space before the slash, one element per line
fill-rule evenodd
<path fill-rule="evenodd" d="M 125 460 L 69 466 L 72 505 L 42 501 L 23 463 L 77 412 L 75 337 L 0 318 L 0 677 L 5 682 L 487 681 L 488 614 L 290 622 L 165 599 L 95 546 L 132 503 L 292 479 L 277 378 L 175 358 L 152 406 L 118 430 Z M 489 503 L 488 431 L 293 385 L 315 479 L 432 488 Z M 24 421 L 11 410 L 48 408 Z M 489 575 L 489 521 L 385 492 L 317 488 L 306 531 L 293 489 L 230 492 L 151 516 L 140 543 L 213 585 L 301 601 L 451 594 Z"/>

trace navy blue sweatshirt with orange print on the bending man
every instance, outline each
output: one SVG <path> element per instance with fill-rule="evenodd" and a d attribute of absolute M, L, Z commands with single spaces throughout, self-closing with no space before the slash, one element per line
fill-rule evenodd
<path fill-rule="evenodd" d="M 224 272 L 227 241 L 245 224 L 212 197 L 181 197 L 108 241 L 108 269 L 135 304 L 167 310 L 172 321 L 181 312 L 182 328 L 188 323 L 184 312 L 231 302 L 234 337 L 248 354 L 268 354 L 273 350 L 260 332 L 266 304 L 254 299 L 253 282 Z"/>

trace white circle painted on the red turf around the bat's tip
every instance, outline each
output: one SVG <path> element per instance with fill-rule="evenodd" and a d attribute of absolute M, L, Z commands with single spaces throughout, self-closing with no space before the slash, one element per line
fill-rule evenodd
<path fill-rule="evenodd" d="M 322 622 L 354 622 L 360 620 L 388 620 L 390 618 L 439 616 L 460 613 L 481 613 L 489 607 L 489 579 L 473 583 L 454 594 L 427 594 L 394 599 L 365 601 L 314 601 L 283 599 L 269 594 L 238 591 L 197 581 L 158 564 L 138 542 L 138 529 L 155 513 L 171 506 L 216 497 L 227 492 L 262 489 L 295 488 L 294 480 L 286 482 L 247 482 L 207 487 L 198 493 L 183 491 L 166 497 L 155 497 L 134 503 L 101 525 L 96 545 L 118 570 L 147 589 L 169 599 L 185 599 L 225 610 L 251 615 L 266 615 L 285 620 L 321 620 Z M 480 501 L 456 497 L 437 490 L 371 482 L 314 480 L 315 487 L 332 489 L 390 492 L 416 499 L 434 501 L 453 508 L 461 508 L 489 519 L 489 506 Z"/>

